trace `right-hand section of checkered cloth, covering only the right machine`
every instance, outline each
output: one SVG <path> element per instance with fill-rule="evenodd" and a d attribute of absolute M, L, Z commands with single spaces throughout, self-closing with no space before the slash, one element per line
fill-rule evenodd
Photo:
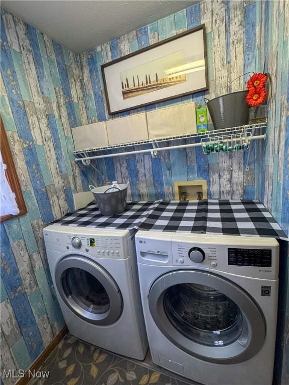
<path fill-rule="evenodd" d="M 259 201 L 162 201 L 138 229 L 274 237 L 286 235 Z"/>

